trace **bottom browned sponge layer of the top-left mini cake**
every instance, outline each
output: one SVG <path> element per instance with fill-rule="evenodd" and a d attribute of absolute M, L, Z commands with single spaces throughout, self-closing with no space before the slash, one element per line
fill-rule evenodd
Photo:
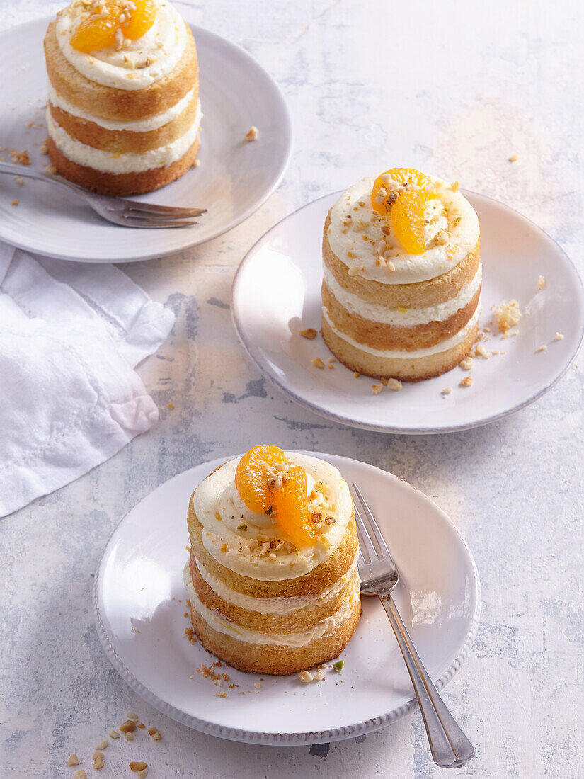
<path fill-rule="evenodd" d="M 153 192 L 154 189 L 160 189 L 160 187 L 174 182 L 175 179 L 188 171 L 199 153 L 199 136 L 180 160 L 176 160 L 166 167 L 153 167 L 150 171 L 140 171 L 139 173 L 109 173 L 108 171 L 97 171 L 86 165 L 79 165 L 65 157 L 55 146 L 55 141 L 51 137 L 47 138 L 47 151 L 51 163 L 55 165 L 58 173 L 74 184 L 79 184 L 92 192 L 98 192 L 100 195 L 142 195 L 144 192 Z"/>

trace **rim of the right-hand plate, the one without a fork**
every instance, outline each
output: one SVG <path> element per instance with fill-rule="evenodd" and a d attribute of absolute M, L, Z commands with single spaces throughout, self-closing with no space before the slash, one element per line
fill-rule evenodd
<path fill-rule="evenodd" d="M 295 214 L 300 213 L 304 209 L 315 205 L 315 203 L 318 203 L 321 200 L 332 198 L 334 196 L 339 197 L 343 194 L 343 192 L 344 192 L 343 189 L 339 189 L 337 192 L 329 192 L 329 194 L 327 195 L 322 195 L 321 197 L 311 200 L 309 203 L 304 203 L 304 206 L 300 206 L 300 208 L 297 208 L 294 211 L 290 211 L 290 213 L 287 213 L 285 217 L 278 220 L 276 224 L 273 225 L 273 227 L 270 227 L 269 230 L 267 230 L 262 236 L 260 236 L 260 238 L 258 238 L 257 241 L 255 241 L 254 245 L 245 254 L 245 257 L 241 260 L 241 263 L 237 268 L 233 283 L 231 285 L 231 294 L 230 294 L 231 321 L 233 322 L 234 330 L 235 333 L 237 334 L 237 338 L 241 346 L 244 348 L 245 353 L 248 355 L 248 358 L 252 360 L 252 363 L 259 369 L 262 375 L 265 376 L 266 379 L 268 379 L 269 382 L 273 384 L 273 386 L 275 386 L 278 390 L 280 390 L 280 392 L 282 392 L 287 397 L 290 397 L 292 400 L 294 400 L 295 403 L 297 403 L 301 407 L 308 408 L 309 411 L 318 414 L 318 416 L 324 417 L 326 419 L 331 419 L 332 421 L 339 422 L 342 425 L 347 425 L 352 428 L 359 428 L 361 430 L 373 430 L 375 432 L 383 432 L 383 433 L 390 433 L 390 434 L 397 434 L 397 435 L 439 435 L 441 433 L 460 432 L 462 430 L 481 428 L 484 427 L 485 425 L 490 425 L 491 422 L 499 421 L 501 419 L 504 419 L 505 417 L 510 416 L 511 414 L 515 414 L 515 412 L 517 411 L 521 411 L 523 408 L 526 408 L 527 406 L 535 403 L 536 400 L 539 400 L 540 397 L 543 397 L 547 392 L 549 392 L 552 389 L 552 387 L 554 387 L 560 381 L 560 379 L 563 378 L 566 372 L 568 372 L 568 369 L 572 367 L 572 364 L 575 361 L 575 358 L 578 356 L 580 348 L 582 347 L 582 342 L 584 342 L 584 323 L 582 324 L 582 329 L 578 337 L 578 344 L 575 347 L 572 356 L 568 359 L 565 366 L 554 377 L 554 379 L 552 379 L 551 382 L 548 382 L 543 389 L 529 396 L 529 398 L 527 398 L 526 400 L 522 400 L 520 403 L 515 404 L 511 408 L 506 409 L 505 411 L 499 411 L 497 414 L 491 414 L 490 416 L 479 419 L 477 421 L 467 422 L 466 424 L 445 425 L 443 427 L 432 426 L 432 427 L 412 428 L 412 427 L 399 427 L 396 425 L 368 424 L 367 422 L 361 421 L 359 419 L 355 419 L 353 417 L 341 416 L 339 414 L 333 413 L 332 411 L 328 411 L 322 405 L 315 404 L 311 402 L 311 400 L 307 400 L 305 397 L 302 397 L 297 393 L 295 393 L 293 390 L 290 390 L 289 387 L 287 387 L 283 382 L 280 382 L 275 375 L 269 372 L 269 370 L 264 365 L 262 365 L 262 362 L 259 360 L 259 358 L 256 358 L 255 354 L 253 354 L 252 347 L 250 347 L 250 345 L 248 344 L 248 340 L 245 337 L 245 330 L 241 326 L 241 323 L 238 321 L 236 315 L 237 312 L 236 298 L 238 293 L 238 286 L 239 284 L 241 284 L 242 274 L 245 273 L 245 266 L 248 264 L 248 262 L 250 262 L 253 259 L 253 255 L 255 253 L 255 250 L 259 247 L 259 244 L 261 244 L 262 241 L 265 241 L 268 238 L 269 234 L 271 234 L 273 231 L 276 231 L 276 229 L 280 227 L 280 224 L 287 221 L 288 219 L 290 219 L 290 217 L 293 217 Z M 558 249 L 558 252 L 560 252 L 561 256 L 563 256 L 563 259 L 568 263 L 568 266 L 572 268 L 575 277 L 578 279 L 579 285 L 577 286 L 577 288 L 579 291 L 580 302 L 582 304 L 582 308 L 584 309 L 584 283 L 582 282 L 582 277 L 580 276 L 579 270 L 575 266 L 575 263 L 572 262 L 572 259 L 570 259 L 567 252 L 565 252 L 565 250 L 561 248 L 561 246 L 558 244 L 558 241 L 555 241 L 554 238 L 551 237 L 551 235 L 547 234 L 547 232 L 542 227 L 536 224 L 533 220 L 529 219 L 529 217 L 525 217 L 518 210 L 515 210 L 511 206 L 508 206 L 506 203 L 502 203 L 501 200 L 496 200 L 487 195 L 483 195 L 480 192 L 474 192 L 472 189 L 461 188 L 461 192 L 463 192 L 465 196 L 470 195 L 478 199 L 484 199 L 487 200 L 489 203 L 494 203 L 495 206 L 499 206 L 505 210 L 511 211 L 513 214 L 515 214 L 515 217 L 518 217 L 521 220 L 525 220 L 532 227 L 534 227 L 536 231 L 539 231 L 540 233 L 544 234 L 547 240 L 551 241 L 555 245 L 556 249 Z"/>

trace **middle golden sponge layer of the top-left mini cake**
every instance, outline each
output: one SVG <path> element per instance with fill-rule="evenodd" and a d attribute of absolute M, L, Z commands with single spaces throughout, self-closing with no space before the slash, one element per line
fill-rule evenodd
<path fill-rule="evenodd" d="M 62 108 L 49 102 L 49 111 L 55 122 L 68 132 L 70 136 L 92 146 L 93 149 L 101 149 L 111 153 L 124 154 L 127 152 L 140 153 L 166 146 L 188 132 L 195 121 L 199 102 L 199 90 L 195 90 L 192 100 L 187 107 L 171 122 L 148 132 L 132 132 L 131 130 L 109 130 L 100 127 L 95 122 L 87 122 L 77 116 L 63 111 Z"/>

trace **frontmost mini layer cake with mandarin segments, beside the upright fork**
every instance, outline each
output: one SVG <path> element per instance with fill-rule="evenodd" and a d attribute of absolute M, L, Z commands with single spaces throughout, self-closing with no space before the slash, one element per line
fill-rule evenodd
<path fill-rule="evenodd" d="M 203 645 L 241 671 L 336 657 L 361 614 L 353 501 L 332 465 L 255 446 L 188 505 L 185 587 Z"/>

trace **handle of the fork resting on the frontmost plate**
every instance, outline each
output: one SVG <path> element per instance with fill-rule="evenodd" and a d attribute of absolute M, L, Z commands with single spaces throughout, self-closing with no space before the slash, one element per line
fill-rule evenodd
<path fill-rule="evenodd" d="M 420 660 L 416 647 L 413 646 L 410 633 L 403 624 L 391 594 L 379 595 L 379 599 L 389 617 L 399 649 L 406 661 L 406 668 L 426 726 L 434 763 L 442 768 L 463 767 L 473 757 L 473 745 L 446 708 L 434 682 L 424 668 L 424 663 Z"/>

